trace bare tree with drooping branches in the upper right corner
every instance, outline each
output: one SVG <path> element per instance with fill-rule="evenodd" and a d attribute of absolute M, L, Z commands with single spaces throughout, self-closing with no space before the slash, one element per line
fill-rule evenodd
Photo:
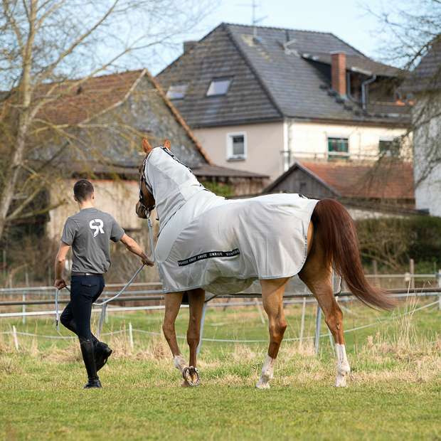
<path fill-rule="evenodd" d="M 403 68 L 398 90 L 403 102 L 413 105 L 413 122 L 400 142 L 415 138 L 415 184 L 421 186 L 441 164 L 441 1 L 392 0 L 381 10 L 364 7 L 378 18 L 383 60 Z"/>

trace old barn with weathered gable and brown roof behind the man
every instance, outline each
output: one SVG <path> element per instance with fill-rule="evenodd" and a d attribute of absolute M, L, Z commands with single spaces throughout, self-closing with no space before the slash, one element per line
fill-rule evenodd
<path fill-rule="evenodd" d="M 65 129 L 63 137 L 51 139 L 47 146 L 50 152 L 60 152 L 52 166 L 65 170 L 65 178 L 51 190 L 50 238 L 59 238 L 65 219 L 78 211 L 72 188 L 83 178 L 95 186 L 97 208 L 110 213 L 124 230 L 140 230 L 142 221 L 134 206 L 139 198 L 143 137 L 153 145 L 169 139 L 172 152 L 208 188 L 216 184 L 228 186 L 233 194 L 257 193 L 268 182 L 262 174 L 215 166 L 146 69 L 90 78 L 78 90 L 43 107 L 38 116 Z M 66 144 L 71 148 L 66 149 Z M 62 205 L 60 198 L 65 199 Z"/>

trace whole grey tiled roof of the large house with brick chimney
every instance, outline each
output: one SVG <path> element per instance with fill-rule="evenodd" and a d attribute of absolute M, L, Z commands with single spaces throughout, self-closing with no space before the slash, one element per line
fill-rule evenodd
<path fill-rule="evenodd" d="M 349 67 L 367 74 L 395 75 L 395 68 L 373 62 L 331 33 L 259 27 L 257 35 L 254 41 L 251 26 L 223 23 L 159 73 L 164 90 L 188 84 L 184 99 L 173 102 L 190 126 L 285 118 L 409 122 L 408 116 L 365 115 L 359 105 L 331 90 L 317 65 L 329 63 L 329 52 L 344 51 Z M 289 51 L 284 49 L 287 41 Z M 230 76 L 227 95 L 206 97 L 213 78 Z"/>

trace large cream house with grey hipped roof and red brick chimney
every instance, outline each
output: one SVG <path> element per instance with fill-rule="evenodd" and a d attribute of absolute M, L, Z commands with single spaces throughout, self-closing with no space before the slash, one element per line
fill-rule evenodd
<path fill-rule="evenodd" d="M 276 179 L 294 162 L 361 164 L 396 148 L 411 107 L 400 70 L 331 33 L 256 30 L 222 23 L 156 76 L 216 164 Z"/>

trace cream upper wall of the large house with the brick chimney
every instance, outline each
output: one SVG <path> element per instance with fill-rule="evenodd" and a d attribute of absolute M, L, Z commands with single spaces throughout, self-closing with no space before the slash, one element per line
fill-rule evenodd
<path fill-rule="evenodd" d="M 349 137 L 351 161 L 373 161 L 379 152 L 380 139 L 393 139 L 405 129 L 361 127 L 345 124 L 291 121 L 203 127 L 193 130 L 214 164 L 232 169 L 254 171 L 276 179 L 295 161 L 326 161 L 328 137 Z M 227 134 L 246 133 L 247 157 L 227 160 Z M 282 153 L 291 151 L 291 154 Z M 288 161 L 288 156 L 290 159 Z"/>

